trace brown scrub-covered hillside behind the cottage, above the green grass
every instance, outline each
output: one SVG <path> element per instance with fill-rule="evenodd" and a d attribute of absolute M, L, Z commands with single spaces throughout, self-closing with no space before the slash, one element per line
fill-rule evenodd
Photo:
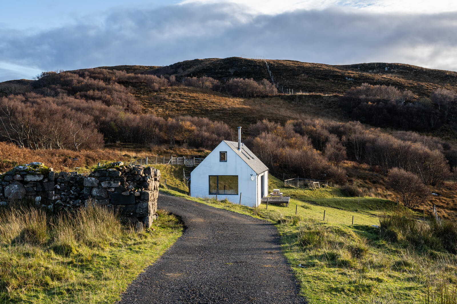
<path fill-rule="evenodd" d="M 233 130 L 242 126 L 245 143 L 253 147 L 255 153 L 265 153 L 262 157 L 276 176 L 326 179 L 340 186 L 349 183 L 365 189 L 369 196 L 380 194 L 385 199 L 394 199 L 392 192 L 386 189 L 386 175 L 391 168 L 400 166 L 420 174 L 431 192 L 442 194 L 431 196 L 428 206 L 436 204 L 443 217 L 457 216 L 453 195 L 456 185 L 450 180 L 452 168 L 457 165 L 457 147 L 453 145 L 455 125 L 443 124 L 428 132 L 441 137 L 432 139 L 398 133 L 398 129 L 410 129 L 397 129 L 394 125 L 376 129 L 373 126 L 377 125 L 370 121 L 353 123 L 354 118 L 340 106 L 341 95 L 363 82 L 408 88 L 415 95 L 410 103 L 413 105 L 420 96 L 430 96 L 435 88 L 455 90 L 457 72 L 384 63 L 331 66 L 272 60 L 268 64 L 273 75 L 278 72 L 284 77 L 284 83 L 295 86 L 295 92 L 296 88 L 307 86 L 308 93 L 302 90 L 302 94 L 274 92 L 243 97 L 228 92 L 225 86 L 232 77 L 252 77 L 259 84 L 268 76 L 266 62 L 231 57 L 195 59 L 167 67 L 116 66 L 46 72 L 35 81 L 0 83 L 0 96 L 6 97 L 0 102 L 4 107 L 16 107 L 18 112 L 17 117 L 3 115 L 4 119 L 34 129 L 15 134 L 13 140 L 38 151 L 43 149 L 41 147 L 54 151 L 105 147 L 125 150 L 129 155 L 196 156 L 213 149 L 222 139 L 234 139 Z M 173 75 L 175 77 L 170 77 Z M 217 80 L 204 80 L 215 85 L 192 84 L 183 82 L 189 80 L 186 76 L 194 80 L 202 79 L 197 77 Z M 21 93 L 24 94 L 22 99 L 11 95 Z M 27 107 L 23 107 L 24 103 Z M 380 112 L 372 113 L 379 116 Z M 33 119 L 32 124 L 31 115 L 38 118 Z M 257 124 L 264 119 L 269 122 Z M 289 120 L 295 122 L 286 126 Z M 73 125 L 71 129 L 62 128 L 60 124 L 57 129 L 49 129 L 56 121 L 65 121 L 62 124 L 65 126 L 69 122 Z M 80 145 L 76 146 L 71 132 L 76 132 L 79 125 L 90 140 L 80 138 Z M 13 141 L 9 138 L 11 134 L 0 135 L 3 140 Z M 358 151 L 356 144 L 364 148 Z M 385 156 L 384 151 L 392 152 Z M 399 157 L 404 154 L 411 156 Z M 436 168 L 419 168 L 413 161 L 418 155 L 424 164 L 434 161 Z M 2 160 L 5 169 L 18 161 L 7 157 Z M 96 163 L 96 158 L 90 162 Z M 424 169 L 430 176 L 441 176 L 439 182 L 425 177 Z"/>

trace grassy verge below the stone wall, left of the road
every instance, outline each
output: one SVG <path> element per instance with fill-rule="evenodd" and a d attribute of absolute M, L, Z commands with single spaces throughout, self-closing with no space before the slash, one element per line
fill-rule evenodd
<path fill-rule="evenodd" d="M 35 208 L 0 212 L 0 302 L 113 303 L 181 236 L 165 211 L 136 232 L 111 211 L 51 216 Z"/>

